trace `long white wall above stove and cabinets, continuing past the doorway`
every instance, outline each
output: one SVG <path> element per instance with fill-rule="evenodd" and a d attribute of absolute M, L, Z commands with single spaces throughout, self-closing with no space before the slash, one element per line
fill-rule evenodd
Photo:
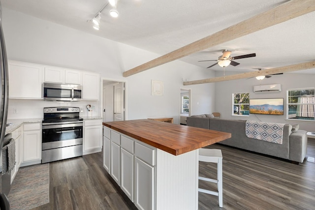
<path fill-rule="evenodd" d="M 2 21 L 9 60 L 95 71 L 101 77 L 126 81 L 128 120 L 163 116 L 173 117 L 174 122 L 179 123 L 179 90 L 184 87 L 183 79 L 196 80 L 214 75 L 212 71 L 176 60 L 124 78 L 124 71 L 160 55 L 7 8 L 3 8 Z M 151 80 L 163 82 L 162 96 L 151 95 Z M 191 114 L 215 111 L 214 84 L 185 88 L 191 89 L 192 93 Z M 47 102 L 34 102 L 35 105 L 29 100 L 10 100 L 9 109 L 21 104 L 21 115 L 9 113 L 8 118 L 42 116 L 42 108 L 47 106 Z M 82 103 L 82 106 L 87 104 Z M 48 106 L 50 105 L 55 106 L 54 102 L 49 102 Z M 101 115 L 100 107 L 97 104 L 95 107 L 98 108 L 98 115 Z"/>

